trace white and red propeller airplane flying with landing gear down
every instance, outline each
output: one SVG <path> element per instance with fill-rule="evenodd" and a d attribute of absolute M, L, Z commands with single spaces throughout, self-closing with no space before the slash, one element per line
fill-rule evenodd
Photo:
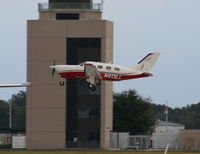
<path fill-rule="evenodd" d="M 52 76 L 55 71 L 61 76 L 60 86 L 64 86 L 64 78 L 85 78 L 90 90 L 95 91 L 100 80 L 121 81 L 153 76 L 150 72 L 159 55 L 158 52 L 149 53 L 132 67 L 93 61 L 86 61 L 79 65 L 55 65 L 55 60 L 49 67 L 52 69 Z"/>

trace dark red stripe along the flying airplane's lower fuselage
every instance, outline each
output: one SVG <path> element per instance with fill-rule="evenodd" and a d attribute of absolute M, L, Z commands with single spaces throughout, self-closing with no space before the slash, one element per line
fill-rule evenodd
<path fill-rule="evenodd" d="M 75 78 L 86 78 L 85 72 L 63 72 L 59 73 L 62 78 L 67 79 L 75 79 Z M 142 73 L 135 75 L 123 75 L 123 74 L 113 74 L 113 73 L 100 73 L 103 80 L 109 81 L 120 81 L 120 80 L 128 80 L 135 78 L 143 78 L 152 76 L 150 73 Z"/>

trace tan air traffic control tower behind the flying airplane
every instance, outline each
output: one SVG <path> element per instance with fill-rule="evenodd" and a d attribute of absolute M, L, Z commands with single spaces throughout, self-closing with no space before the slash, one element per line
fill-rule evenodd
<path fill-rule="evenodd" d="M 52 77 L 53 64 L 110 62 L 113 23 L 102 20 L 102 3 L 49 0 L 39 4 L 39 19 L 28 20 L 27 149 L 109 148 L 112 83 L 91 92 L 84 79 Z"/>

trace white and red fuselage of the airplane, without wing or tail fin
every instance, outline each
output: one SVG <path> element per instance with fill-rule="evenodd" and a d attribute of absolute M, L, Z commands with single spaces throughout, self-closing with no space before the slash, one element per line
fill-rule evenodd
<path fill-rule="evenodd" d="M 152 76 L 150 73 L 144 73 L 131 67 L 90 61 L 80 65 L 56 65 L 55 69 L 62 78 L 86 78 L 84 70 L 85 65 L 95 66 L 101 75 L 102 80 L 120 81 Z"/>

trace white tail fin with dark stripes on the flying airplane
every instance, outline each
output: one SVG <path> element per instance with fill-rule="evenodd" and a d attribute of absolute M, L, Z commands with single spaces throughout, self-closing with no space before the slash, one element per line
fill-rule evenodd
<path fill-rule="evenodd" d="M 133 68 L 145 73 L 150 73 L 159 56 L 160 53 L 158 52 L 149 53 L 137 65 L 133 66 Z"/>

